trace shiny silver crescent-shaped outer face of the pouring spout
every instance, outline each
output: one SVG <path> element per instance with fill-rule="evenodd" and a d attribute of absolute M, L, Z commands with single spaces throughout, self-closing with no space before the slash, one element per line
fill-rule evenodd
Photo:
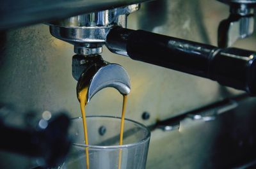
<path fill-rule="evenodd" d="M 119 64 L 108 64 L 95 73 L 88 86 L 87 101 L 89 102 L 97 92 L 106 87 L 113 87 L 124 95 L 131 91 L 129 75 Z"/>

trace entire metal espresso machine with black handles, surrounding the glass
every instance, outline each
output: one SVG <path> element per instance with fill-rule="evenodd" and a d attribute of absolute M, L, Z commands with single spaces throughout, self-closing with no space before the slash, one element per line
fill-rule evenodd
<path fill-rule="evenodd" d="M 0 168 L 65 160 L 83 85 L 88 115 L 120 116 L 129 94 L 149 169 L 256 165 L 256 1 L 0 4 Z"/>

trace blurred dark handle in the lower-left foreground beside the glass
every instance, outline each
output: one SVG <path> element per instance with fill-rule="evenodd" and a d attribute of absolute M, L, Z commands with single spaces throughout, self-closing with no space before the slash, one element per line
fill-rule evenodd
<path fill-rule="evenodd" d="M 1 120 L 1 119 L 0 119 Z M 0 121 L 0 150 L 44 159 L 42 166 L 60 164 L 68 153 L 70 119 L 65 114 L 51 120 L 45 129 L 19 129 Z"/>

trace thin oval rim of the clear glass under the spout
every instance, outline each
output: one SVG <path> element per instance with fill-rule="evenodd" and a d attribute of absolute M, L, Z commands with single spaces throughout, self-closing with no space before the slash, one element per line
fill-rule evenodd
<path fill-rule="evenodd" d="M 104 117 L 104 118 L 111 118 L 111 119 L 121 119 L 121 117 L 116 117 L 116 116 L 111 116 L 111 115 L 89 115 L 86 116 L 87 118 L 92 118 L 92 117 Z M 71 120 L 77 120 L 77 119 L 82 119 L 82 117 L 74 117 Z M 124 148 L 129 148 L 129 147 L 134 147 L 140 144 L 143 144 L 145 142 L 148 142 L 148 140 L 150 140 L 150 130 L 147 128 L 147 126 L 145 126 L 144 124 L 141 124 L 140 122 L 136 122 L 133 121 L 131 119 L 124 119 L 125 121 L 129 121 L 132 122 L 134 124 L 137 124 L 138 126 L 140 126 L 141 128 L 145 129 L 145 131 L 147 131 L 147 135 L 144 136 L 140 141 L 135 142 L 135 143 L 127 143 L 127 144 L 123 144 L 123 145 L 86 145 L 86 144 L 81 144 L 81 143 L 72 143 L 72 145 L 76 146 L 76 147 L 88 147 L 89 149 L 124 149 Z"/>

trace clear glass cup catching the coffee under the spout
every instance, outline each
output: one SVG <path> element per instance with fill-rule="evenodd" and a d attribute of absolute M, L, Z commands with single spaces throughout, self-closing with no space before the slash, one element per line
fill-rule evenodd
<path fill-rule="evenodd" d="M 145 169 L 150 131 L 143 124 L 125 119 L 123 145 L 118 145 L 119 117 L 90 116 L 86 122 L 89 145 L 84 144 L 83 120 L 73 119 L 71 132 L 75 143 L 59 168 L 88 169 L 85 151 L 88 147 L 90 169 Z"/>

